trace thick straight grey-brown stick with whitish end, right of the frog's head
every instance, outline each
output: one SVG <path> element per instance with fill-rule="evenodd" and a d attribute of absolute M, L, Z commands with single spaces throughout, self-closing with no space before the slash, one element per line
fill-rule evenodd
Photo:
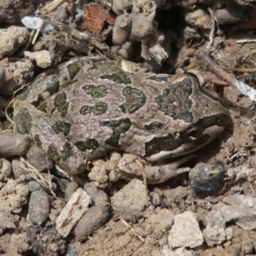
<path fill-rule="evenodd" d="M 230 86 L 233 86 L 241 94 L 248 96 L 253 101 L 256 101 L 256 90 L 251 88 L 249 85 L 237 80 L 234 74 L 227 73 L 222 68 L 218 67 L 218 65 L 214 61 L 212 61 L 212 59 L 207 55 L 204 50 L 196 50 L 195 57 L 202 66 L 207 67 L 209 71 L 215 73 L 220 79 L 223 79 L 224 81 L 229 83 Z"/>

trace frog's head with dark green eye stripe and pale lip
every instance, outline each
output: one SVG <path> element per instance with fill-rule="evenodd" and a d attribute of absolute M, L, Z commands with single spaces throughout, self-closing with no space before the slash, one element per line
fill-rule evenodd
<path fill-rule="evenodd" d="M 214 92 L 203 89 L 192 74 L 174 76 L 173 83 L 155 102 L 161 112 L 172 116 L 173 132 L 145 144 L 147 160 L 189 154 L 218 137 L 230 122 L 224 102 Z"/>

